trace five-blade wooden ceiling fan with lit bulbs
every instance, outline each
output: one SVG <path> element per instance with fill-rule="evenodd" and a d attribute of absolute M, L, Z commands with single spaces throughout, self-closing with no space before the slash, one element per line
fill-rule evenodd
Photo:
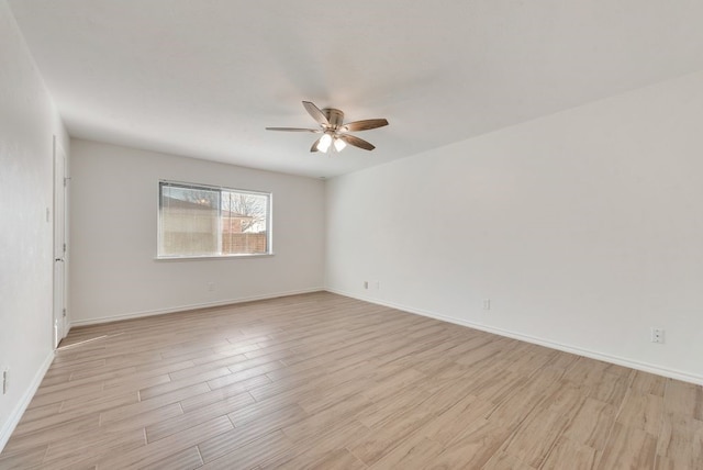
<path fill-rule="evenodd" d="M 320 138 L 312 144 L 310 152 L 327 153 L 334 148 L 342 152 L 347 144 L 355 147 L 372 150 L 376 148 L 362 138 L 347 134 L 348 132 L 368 131 L 371 128 L 388 125 L 384 119 L 367 119 L 364 121 L 354 121 L 344 123 L 344 113 L 334 108 L 323 108 L 322 110 L 310 101 L 303 101 L 303 107 L 308 113 L 320 124 L 320 128 L 299 128 L 299 127 L 266 127 L 267 131 L 287 131 L 287 132 L 312 132 L 322 134 Z"/>

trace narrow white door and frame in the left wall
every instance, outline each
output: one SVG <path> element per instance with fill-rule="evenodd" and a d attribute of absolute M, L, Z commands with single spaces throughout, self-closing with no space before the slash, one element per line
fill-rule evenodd
<path fill-rule="evenodd" d="M 68 334 L 66 327 L 67 318 L 67 182 L 66 176 L 66 152 L 60 142 L 54 135 L 54 236 L 52 246 L 52 268 L 53 268 L 53 312 L 52 312 L 52 338 L 56 349 L 58 344 Z"/>

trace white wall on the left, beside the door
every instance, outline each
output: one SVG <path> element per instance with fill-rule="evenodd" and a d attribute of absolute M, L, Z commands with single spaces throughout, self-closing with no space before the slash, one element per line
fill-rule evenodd
<path fill-rule="evenodd" d="M 0 1 L 0 449 L 53 358 L 53 136 L 68 136 Z"/>

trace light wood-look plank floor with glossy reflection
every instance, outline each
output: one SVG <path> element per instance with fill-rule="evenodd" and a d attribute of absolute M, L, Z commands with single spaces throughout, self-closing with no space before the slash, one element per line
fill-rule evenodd
<path fill-rule="evenodd" d="M 703 469 L 703 389 L 320 292 L 71 331 L 0 468 Z"/>

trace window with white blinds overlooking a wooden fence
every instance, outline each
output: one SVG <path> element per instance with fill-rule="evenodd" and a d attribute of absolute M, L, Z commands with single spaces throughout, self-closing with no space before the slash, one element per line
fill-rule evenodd
<path fill-rule="evenodd" d="M 159 181 L 159 258 L 271 254 L 271 194 Z"/>

